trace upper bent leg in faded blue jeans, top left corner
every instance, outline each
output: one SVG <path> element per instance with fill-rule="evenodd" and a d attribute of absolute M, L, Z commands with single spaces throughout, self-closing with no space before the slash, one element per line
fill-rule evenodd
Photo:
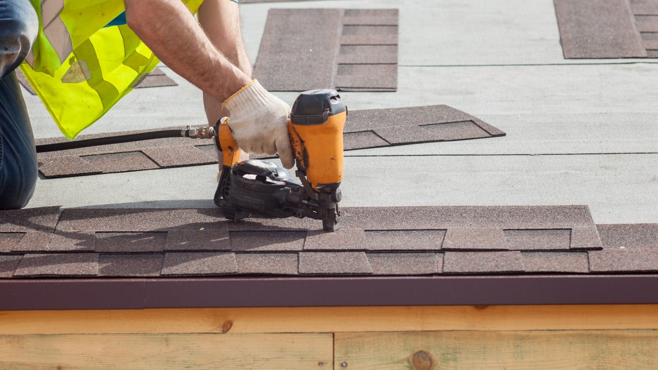
<path fill-rule="evenodd" d="M 39 31 L 29 0 L 0 1 L 0 78 L 22 63 Z"/>

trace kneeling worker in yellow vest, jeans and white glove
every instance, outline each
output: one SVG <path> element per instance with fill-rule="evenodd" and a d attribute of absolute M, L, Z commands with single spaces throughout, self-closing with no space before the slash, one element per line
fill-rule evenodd
<path fill-rule="evenodd" d="M 77 14 L 94 16 L 76 21 Z M 95 39 L 99 33 L 103 37 Z M 108 41 L 115 36 L 118 45 Z M 114 60 L 117 51 L 124 60 L 116 68 L 132 72 L 121 74 L 130 75 L 126 81 L 113 80 L 103 70 L 103 53 L 114 53 L 109 58 Z M 34 136 L 14 72 L 19 64 L 25 61 L 26 78 L 64 135 L 72 138 L 130 91 L 158 59 L 203 91 L 210 125 L 230 116 L 241 149 L 278 152 L 286 168 L 293 166 L 290 106 L 251 78 L 238 0 L 0 0 L 0 209 L 26 206 L 37 178 Z M 87 97 L 97 102 L 75 111 L 74 103 Z M 99 108 L 82 110 L 92 105 Z"/>

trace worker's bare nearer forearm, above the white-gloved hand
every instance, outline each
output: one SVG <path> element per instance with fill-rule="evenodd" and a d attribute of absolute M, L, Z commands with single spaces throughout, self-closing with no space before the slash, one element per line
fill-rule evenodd
<path fill-rule="evenodd" d="M 174 72 L 224 101 L 251 78 L 206 37 L 180 0 L 125 0 L 128 26 Z"/>

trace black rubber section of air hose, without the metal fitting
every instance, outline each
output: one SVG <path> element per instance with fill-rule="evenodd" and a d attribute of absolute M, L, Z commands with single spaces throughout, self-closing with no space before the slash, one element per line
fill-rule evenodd
<path fill-rule="evenodd" d="M 184 132 L 183 134 L 181 134 Z M 151 139 L 162 139 L 163 137 L 190 137 L 189 129 L 163 129 L 161 131 L 149 131 L 141 133 L 130 133 L 128 135 L 116 135 L 97 137 L 77 141 L 64 141 L 63 143 L 37 145 L 37 152 L 55 152 L 57 150 L 78 149 L 95 147 L 97 145 L 109 145 L 118 143 L 130 143 L 131 141 L 142 141 Z"/>

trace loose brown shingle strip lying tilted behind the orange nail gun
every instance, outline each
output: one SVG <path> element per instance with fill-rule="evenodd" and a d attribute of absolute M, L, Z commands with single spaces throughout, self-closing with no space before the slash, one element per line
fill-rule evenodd
<path fill-rule="evenodd" d="M 113 135 L 136 132 L 143 131 Z M 346 150 L 505 135 L 486 122 L 446 105 L 349 110 L 344 132 Z M 78 139 L 101 136 L 106 135 L 80 135 Z M 66 139 L 57 137 L 37 139 L 36 143 L 63 141 Z M 38 162 L 44 176 L 64 177 L 213 164 L 217 155 L 211 140 L 180 137 L 43 152 L 38 154 Z"/>

